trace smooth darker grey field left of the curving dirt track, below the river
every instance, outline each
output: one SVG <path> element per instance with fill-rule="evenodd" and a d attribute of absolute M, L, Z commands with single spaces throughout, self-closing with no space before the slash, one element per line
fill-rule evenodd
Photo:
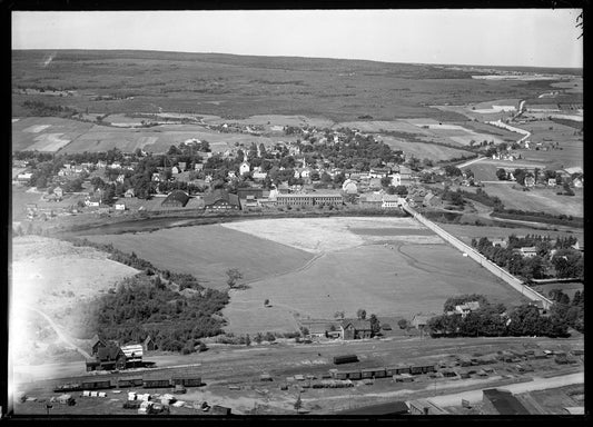
<path fill-rule="evenodd" d="M 86 236 L 136 252 L 160 269 L 188 272 L 210 288 L 228 288 L 226 271 L 238 268 L 248 281 L 293 270 L 313 256 L 255 236 L 215 226 L 179 227 L 152 232 Z"/>

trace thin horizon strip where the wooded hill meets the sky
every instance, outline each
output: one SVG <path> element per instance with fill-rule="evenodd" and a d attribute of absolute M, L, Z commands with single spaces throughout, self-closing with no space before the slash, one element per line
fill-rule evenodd
<path fill-rule="evenodd" d="M 126 52 L 158 52 L 158 53 L 189 53 L 189 54 L 226 54 L 235 57 L 260 57 L 260 58 L 298 58 L 298 59 L 330 59 L 338 61 L 365 61 L 365 62 L 376 62 L 376 63 L 403 63 L 411 66 L 447 66 L 447 67 L 481 67 L 481 68 L 538 68 L 538 69 L 571 69 L 571 70 L 583 70 L 583 67 L 546 67 L 546 66 L 496 66 L 496 64 L 476 64 L 476 63 L 443 63 L 443 62 L 389 62 L 389 61 L 379 61 L 375 59 L 364 59 L 364 58 L 332 58 L 332 57 L 300 57 L 300 56 L 285 56 L 285 54 L 250 54 L 250 53 L 229 53 L 229 52 L 191 52 L 191 51 L 180 51 L 180 50 L 152 50 L 152 49 L 81 49 L 81 48 L 56 48 L 56 49 L 39 49 L 39 48 L 19 48 L 11 49 L 11 51 L 126 51 Z"/>

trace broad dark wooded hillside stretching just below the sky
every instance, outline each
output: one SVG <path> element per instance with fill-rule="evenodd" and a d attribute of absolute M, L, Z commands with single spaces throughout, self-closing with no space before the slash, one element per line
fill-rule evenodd
<path fill-rule="evenodd" d="M 13 85 L 76 90 L 75 97 L 13 93 L 14 116 L 26 100 L 63 105 L 83 112 L 254 115 L 322 117 L 335 122 L 370 116 L 375 120 L 461 116 L 428 105 L 467 105 L 491 99 L 537 97 L 551 83 L 476 80 L 472 73 L 427 64 L 358 60 L 270 58 L 155 51 L 14 51 Z M 119 99 L 93 100 L 95 96 Z M 161 110 L 159 110 L 161 109 Z"/>

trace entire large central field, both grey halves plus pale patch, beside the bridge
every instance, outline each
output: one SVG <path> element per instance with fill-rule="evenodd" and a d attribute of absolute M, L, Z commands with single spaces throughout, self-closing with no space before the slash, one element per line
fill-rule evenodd
<path fill-rule="evenodd" d="M 226 288 L 226 270 L 238 268 L 248 288 L 231 290 L 224 310 L 235 334 L 296 330 L 299 318 L 354 316 L 360 307 L 382 316 L 437 314 L 457 294 L 517 300 L 411 218 L 261 219 L 88 238 L 208 287 Z"/>

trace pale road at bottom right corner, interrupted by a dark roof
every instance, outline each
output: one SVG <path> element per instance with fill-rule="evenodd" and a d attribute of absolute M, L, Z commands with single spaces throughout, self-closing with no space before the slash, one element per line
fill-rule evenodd
<path fill-rule="evenodd" d="M 584 384 L 585 374 L 576 373 L 571 375 L 565 375 L 561 377 L 551 377 L 551 378 L 540 378 L 534 377 L 533 381 L 528 383 L 518 383 L 511 384 L 508 386 L 502 386 L 500 388 L 508 390 L 513 394 L 533 391 L 533 390 L 545 390 L 547 388 L 557 388 L 564 386 L 571 386 L 573 384 Z M 462 399 L 468 400 L 472 404 L 482 401 L 482 388 L 478 390 L 456 393 L 451 395 L 443 395 L 429 398 L 435 405 L 441 407 L 446 406 L 459 406 Z"/>

